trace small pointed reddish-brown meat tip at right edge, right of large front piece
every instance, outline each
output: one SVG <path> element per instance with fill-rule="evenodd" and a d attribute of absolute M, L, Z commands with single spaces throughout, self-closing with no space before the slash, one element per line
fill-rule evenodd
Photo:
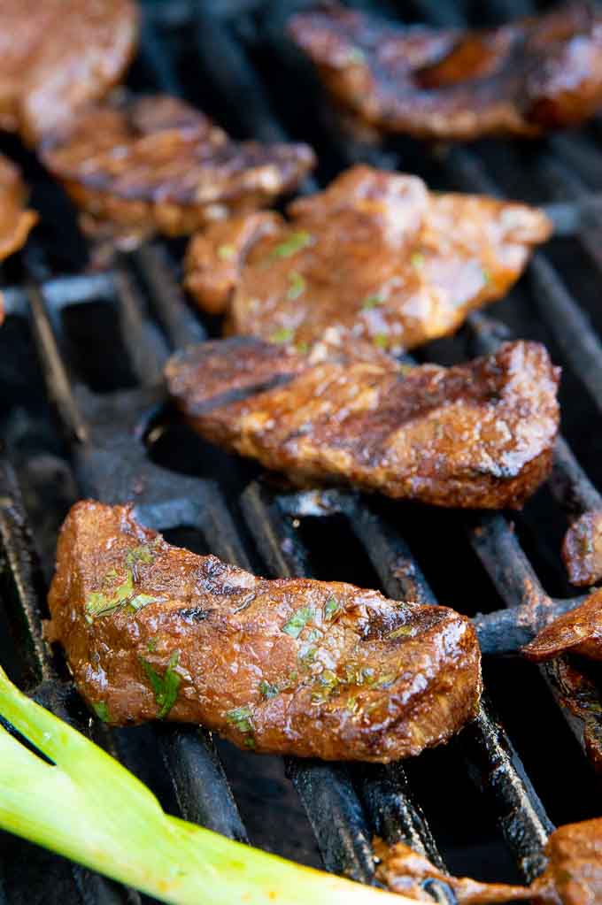
<path fill-rule="evenodd" d="M 580 653 L 602 660 L 602 590 L 569 613 L 564 613 L 545 628 L 522 653 L 530 660 L 550 660 L 561 653 Z"/>

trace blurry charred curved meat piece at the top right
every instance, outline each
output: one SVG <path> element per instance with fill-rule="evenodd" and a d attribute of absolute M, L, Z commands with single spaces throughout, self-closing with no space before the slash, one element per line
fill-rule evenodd
<path fill-rule="evenodd" d="M 532 137 L 602 106 L 602 15 L 588 3 L 473 32 L 337 8 L 294 16 L 290 33 L 358 131 Z"/>

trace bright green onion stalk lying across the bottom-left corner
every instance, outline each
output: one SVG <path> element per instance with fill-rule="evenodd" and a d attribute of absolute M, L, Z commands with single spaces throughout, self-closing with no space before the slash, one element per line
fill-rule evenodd
<path fill-rule="evenodd" d="M 147 786 L 0 669 L 0 826 L 176 905 L 410 905 L 168 816 Z"/>

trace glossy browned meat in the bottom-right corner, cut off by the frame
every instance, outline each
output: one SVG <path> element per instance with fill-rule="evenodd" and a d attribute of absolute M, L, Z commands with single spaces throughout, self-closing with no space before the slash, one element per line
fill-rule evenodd
<path fill-rule="evenodd" d="M 546 870 L 530 886 L 483 883 L 450 877 L 403 843 L 377 840 L 377 879 L 411 899 L 432 901 L 422 887 L 429 878 L 452 887 L 460 905 L 529 899 L 535 905 L 596 905 L 602 900 L 602 820 L 560 826 L 549 837 Z"/>

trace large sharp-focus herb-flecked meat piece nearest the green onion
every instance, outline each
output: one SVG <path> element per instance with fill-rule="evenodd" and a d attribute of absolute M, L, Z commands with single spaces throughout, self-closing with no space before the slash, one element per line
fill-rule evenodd
<path fill-rule="evenodd" d="M 465 616 L 257 578 L 170 546 L 129 506 L 72 508 L 48 600 L 48 637 L 119 725 L 199 722 L 241 748 L 387 762 L 449 738 L 481 693 Z"/>

